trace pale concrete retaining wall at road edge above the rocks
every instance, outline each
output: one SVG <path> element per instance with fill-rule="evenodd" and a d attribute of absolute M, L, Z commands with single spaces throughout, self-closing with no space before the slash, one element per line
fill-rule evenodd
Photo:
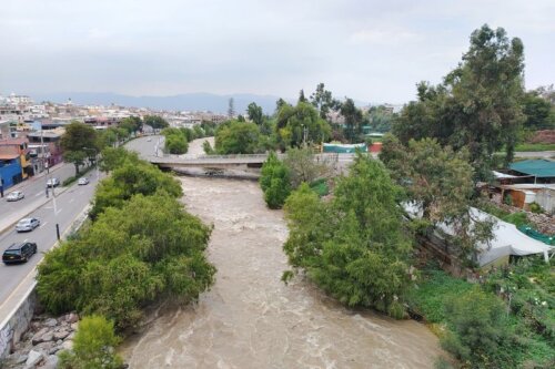
<path fill-rule="evenodd" d="M 29 329 L 38 301 L 34 286 L 24 296 L 18 308 L 0 325 L 0 368 L 3 359 L 10 355 L 13 345 L 19 342 L 21 336 Z"/>

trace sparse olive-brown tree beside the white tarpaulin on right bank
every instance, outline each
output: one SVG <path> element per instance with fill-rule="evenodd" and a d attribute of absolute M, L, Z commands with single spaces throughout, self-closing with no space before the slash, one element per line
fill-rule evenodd
<path fill-rule="evenodd" d="M 404 146 L 387 135 L 380 158 L 422 209 L 422 230 L 440 224 L 453 229 L 445 236 L 456 246 L 457 256 L 466 260 L 478 253 L 477 244 L 493 238 L 493 221 L 478 219 L 471 207 L 474 173 L 467 151 L 455 153 L 435 139 L 411 140 Z"/>

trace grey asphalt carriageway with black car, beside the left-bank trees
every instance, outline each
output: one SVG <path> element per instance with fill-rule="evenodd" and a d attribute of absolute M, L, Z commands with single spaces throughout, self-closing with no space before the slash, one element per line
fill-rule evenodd
<path fill-rule="evenodd" d="M 60 226 L 60 233 L 63 234 L 69 229 L 73 219 L 84 209 L 87 204 L 92 198 L 94 186 L 97 184 L 97 174 L 89 174 L 90 183 L 84 186 L 73 184 L 69 188 L 59 189 L 57 195 L 57 212 L 54 214 L 53 201 L 50 201 L 33 211 L 30 216 L 41 221 L 40 227 L 29 233 L 16 233 L 13 227 L 8 228 L 0 235 L 1 249 L 6 249 L 9 245 L 17 242 L 30 240 L 37 243 L 39 253 L 31 257 L 26 264 L 0 265 L 0 301 L 6 301 L 19 283 L 34 268 L 42 259 L 42 253 L 49 250 L 57 240 L 56 224 Z M 43 186 L 41 185 L 41 188 Z M 32 193 L 31 193 L 32 194 Z M 44 191 L 40 195 L 44 196 Z M 34 201 L 34 196 L 30 201 Z M 26 198 L 29 198 L 26 196 Z M 39 197 L 39 196 L 37 196 Z M 29 199 L 28 199 L 29 201 Z M 20 202 L 13 203 L 21 205 Z M 1 304 L 0 304 L 1 306 Z M 1 318 L 1 317 L 0 317 Z"/>

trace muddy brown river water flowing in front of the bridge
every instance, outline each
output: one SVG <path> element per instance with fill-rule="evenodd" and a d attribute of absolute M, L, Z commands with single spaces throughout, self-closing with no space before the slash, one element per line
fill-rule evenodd
<path fill-rule="evenodd" d="M 424 325 L 345 309 L 300 277 L 280 280 L 287 228 L 255 182 L 180 180 L 189 212 L 214 225 L 216 283 L 193 306 L 157 311 L 123 346 L 131 368 L 433 368 L 441 349 Z"/>

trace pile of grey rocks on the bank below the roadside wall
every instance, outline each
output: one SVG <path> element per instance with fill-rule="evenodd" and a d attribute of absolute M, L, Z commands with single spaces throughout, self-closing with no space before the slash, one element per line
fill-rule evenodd
<path fill-rule="evenodd" d="M 6 369 L 56 369 L 58 351 L 71 350 L 73 337 L 79 324 L 74 312 L 59 318 L 37 316 L 21 341 L 16 344 L 11 353 L 2 363 Z"/>

